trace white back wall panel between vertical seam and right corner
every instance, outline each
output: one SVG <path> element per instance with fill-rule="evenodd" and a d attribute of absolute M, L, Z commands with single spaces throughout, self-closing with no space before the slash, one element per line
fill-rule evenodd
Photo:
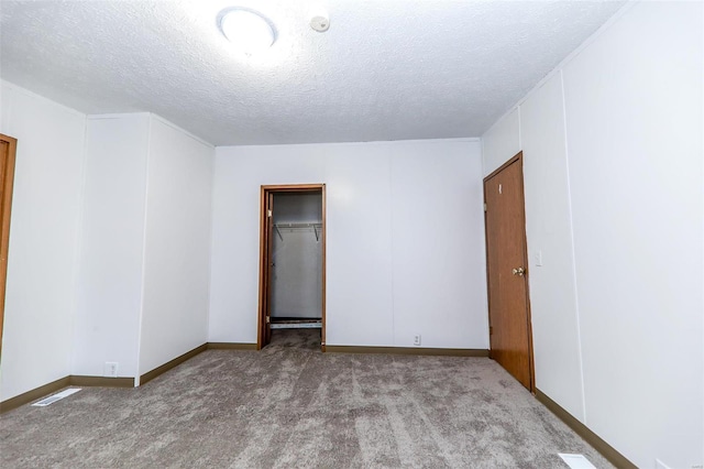
<path fill-rule="evenodd" d="M 427 146 L 392 157 L 394 345 L 486 349 L 480 143 Z"/>

